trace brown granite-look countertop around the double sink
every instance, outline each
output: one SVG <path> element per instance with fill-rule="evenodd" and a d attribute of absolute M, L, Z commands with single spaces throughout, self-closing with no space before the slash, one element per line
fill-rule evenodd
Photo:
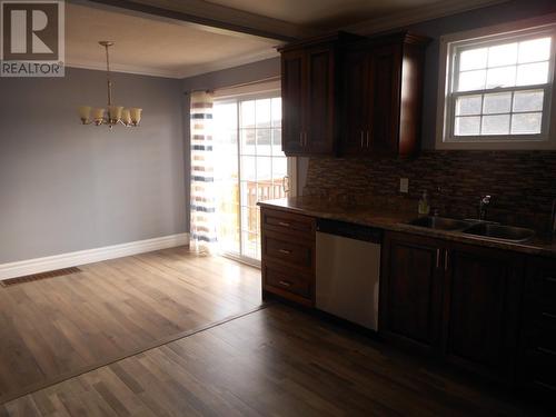
<path fill-rule="evenodd" d="M 436 230 L 407 225 L 409 220 L 418 217 L 416 208 L 407 207 L 407 205 L 396 205 L 393 201 L 377 200 L 349 203 L 347 201 L 334 202 L 319 197 L 292 197 L 260 201 L 258 205 L 321 219 L 341 220 L 384 230 L 405 231 L 464 244 L 556 258 L 556 240 L 552 241 L 538 236 L 525 242 L 515 244 L 466 235 L 460 231 Z"/>

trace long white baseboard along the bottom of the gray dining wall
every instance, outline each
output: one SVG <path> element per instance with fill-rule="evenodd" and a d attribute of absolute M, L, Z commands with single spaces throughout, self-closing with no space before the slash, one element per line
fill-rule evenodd
<path fill-rule="evenodd" d="M 99 262 L 107 259 L 121 258 L 153 250 L 175 248 L 189 244 L 189 234 L 163 236 L 155 239 L 130 241 L 121 245 L 105 246 L 102 248 L 79 250 L 76 252 L 20 260 L 10 264 L 0 264 L 0 280 L 24 277 L 31 274 L 51 271 L 56 269 L 77 267 L 80 265 Z"/>

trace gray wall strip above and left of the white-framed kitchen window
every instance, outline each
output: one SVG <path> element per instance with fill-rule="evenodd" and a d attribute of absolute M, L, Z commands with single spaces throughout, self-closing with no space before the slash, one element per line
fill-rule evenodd
<path fill-rule="evenodd" d="M 424 149 L 435 148 L 440 36 L 554 12 L 556 12 L 555 0 L 514 0 L 488 8 L 430 20 L 407 28 L 415 33 L 433 38 L 431 43 L 427 48 L 425 63 L 425 95 L 423 106 Z"/>

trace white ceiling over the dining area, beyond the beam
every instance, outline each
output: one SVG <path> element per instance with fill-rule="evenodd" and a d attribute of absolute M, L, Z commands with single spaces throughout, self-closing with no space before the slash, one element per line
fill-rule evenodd
<path fill-rule="evenodd" d="M 66 3 L 66 61 L 105 69 L 99 40 L 113 40 L 113 70 L 185 78 L 276 57 L 277 41 L 177 20 Z"/>

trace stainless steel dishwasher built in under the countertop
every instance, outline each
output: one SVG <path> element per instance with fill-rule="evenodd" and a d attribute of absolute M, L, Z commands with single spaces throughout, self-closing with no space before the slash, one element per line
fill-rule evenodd
<path fill-rule="evenodd" d="M 381 231 L 317 220 L 316 305 L 368 329 L 378 328 Z"/>

